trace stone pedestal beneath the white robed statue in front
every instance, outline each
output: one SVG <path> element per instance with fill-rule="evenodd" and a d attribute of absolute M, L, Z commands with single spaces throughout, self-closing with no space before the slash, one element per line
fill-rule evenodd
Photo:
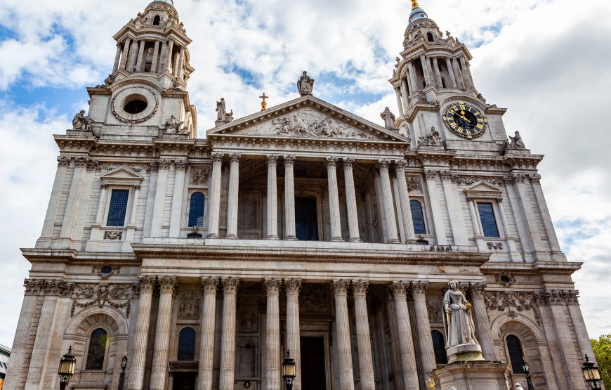
<path fill-rule="evenodd" d="M 507 390 L 509 365 L 487 360 L 449 363 L 433 371 L 431 377 L 438 387 L 449 390 Z M 440 386 L 439 386 L 440 385 Z"/>

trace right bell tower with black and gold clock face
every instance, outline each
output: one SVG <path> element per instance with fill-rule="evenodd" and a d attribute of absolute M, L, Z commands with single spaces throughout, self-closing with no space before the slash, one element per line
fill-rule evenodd
<path fill-rule="evenodd" d="M 498 151 L 507 136 L 505 109 L 489 105 L 475 89 L 468 48 L 442 31 L 418 1 L 412 0 L 403 51 L 389 80 L 397 95 L 396 126 L 412 146 L 448 150 Z"/>

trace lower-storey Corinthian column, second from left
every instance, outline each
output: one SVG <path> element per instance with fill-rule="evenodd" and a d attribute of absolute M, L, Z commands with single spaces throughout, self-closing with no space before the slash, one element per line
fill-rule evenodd
<path fill-rule="evenodd" d="M 150 376 L 151 390 L 164 390 L 168 374 L 168 350 L 172 324 L 172 299 L 176 288 L 176 276 L 159 276 L 159 311 L 155 328 L 155 350 Z"/>

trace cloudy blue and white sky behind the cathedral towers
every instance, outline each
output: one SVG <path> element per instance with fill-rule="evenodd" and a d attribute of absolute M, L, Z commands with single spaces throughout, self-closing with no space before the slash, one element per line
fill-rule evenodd
<path fill-rule="evenodd" d="M 442 30 L 471 48 L 475 85 L 509 108 L 546 155 L 542 185 L 591 337 L 611 333 L 611 5 L 603 0 L 422 0 Z M 0 4 L 0 344 L 11 346 L 62 134 L 87 108 L 86 86 L 112 69 L 112 35 L 147 0 L 2 0 Z M 199 134 L 221 96 L 236 117 L 296 98 L 303 70 L 315 95 L 381 124 L 397 111 L 387 80 L 402 49 L 409 1 L 176 0 L 189 36 Z"/>

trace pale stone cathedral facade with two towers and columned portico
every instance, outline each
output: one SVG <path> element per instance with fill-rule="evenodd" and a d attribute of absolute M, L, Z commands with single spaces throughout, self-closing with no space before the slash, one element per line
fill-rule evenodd
<path fill-rule="evenodd" d="M 413 3 L 383 125 L 317 98 L 304 72 L 301 97 L 261 112 L 219 101 L 198 138 L 172 1 L 124 25 L 87 115 L 55 136 L 5 388 L 57 388 L 72 346 L 70 389 L 117 389 L 126 355 L 129 390 L 280 390 L 287 350 L 296 390 L 426 389 L 454 375 L 456 278 L 478 367 L 524 384 L 524 356 L 535 389 L 585 390 L 580 264 L 558 245 L 543 156 L 508 139 L 468 48 Z"/>

